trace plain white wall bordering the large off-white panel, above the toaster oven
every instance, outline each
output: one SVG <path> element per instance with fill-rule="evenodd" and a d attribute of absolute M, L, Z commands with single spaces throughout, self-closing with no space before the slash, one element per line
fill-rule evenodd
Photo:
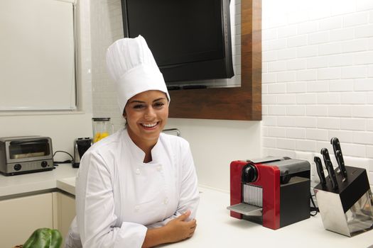
<path fill-rule="evenodd" d="M 53 151 L 63 150 L 69 152 L 72 156 L 73 142 L 76 137 L 92 137 L 89 0 L 78 1 L 77 23 L 80 111 L 0 111 L 0 137 L 21 135 L 48 136 L 52 138 Z M 58 95 L 55 97 L 58 97 Z M 65 159 L 70 159 L 70 157 L 63 153 L 56 154 L 56 161 Z"/>

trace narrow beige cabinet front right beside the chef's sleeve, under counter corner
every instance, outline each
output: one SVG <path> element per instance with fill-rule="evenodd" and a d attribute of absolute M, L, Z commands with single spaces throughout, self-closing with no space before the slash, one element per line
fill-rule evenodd
<path fill-rule="evenodd" d="M 69 230 L 70 224 L 75 217 L 75 198 L 65 193 L 55 192 L 55 201 L 57 202 L 57 226 L 55 228 L 61 232 L 63 244 Z M 56 210 L 56 209 L 55 209 Z"/>

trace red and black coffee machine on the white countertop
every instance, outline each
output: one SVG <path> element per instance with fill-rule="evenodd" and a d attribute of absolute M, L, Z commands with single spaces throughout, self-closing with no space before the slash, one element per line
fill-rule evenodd
<path fill-rule="evenodd" d="M 310 163 L 266 157 L 230 164 L 230 215 L 273 230 L 310 218 Z"/>

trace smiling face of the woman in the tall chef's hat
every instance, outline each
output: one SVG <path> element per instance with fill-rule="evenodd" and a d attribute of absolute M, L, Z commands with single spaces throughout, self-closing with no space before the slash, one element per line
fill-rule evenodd
<path fill-rule="evenodd" d="M 133 96 L 124 107 L 129 137 L 134 143 L 155 145 L 168 118 L 168 99 L 162 91 L 144 91 Z"/>

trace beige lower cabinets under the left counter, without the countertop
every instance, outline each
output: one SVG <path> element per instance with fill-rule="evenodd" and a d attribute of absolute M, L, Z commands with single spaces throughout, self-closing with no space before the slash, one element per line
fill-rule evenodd
<path fill-rule="evenodd" d="M 65 240 L 75 217 L 75 198 L 61 192 L 11 198 L 0 201 L 0 213 L 1 247 L 23 244 L 41 227 L 58 229 Z"/>

